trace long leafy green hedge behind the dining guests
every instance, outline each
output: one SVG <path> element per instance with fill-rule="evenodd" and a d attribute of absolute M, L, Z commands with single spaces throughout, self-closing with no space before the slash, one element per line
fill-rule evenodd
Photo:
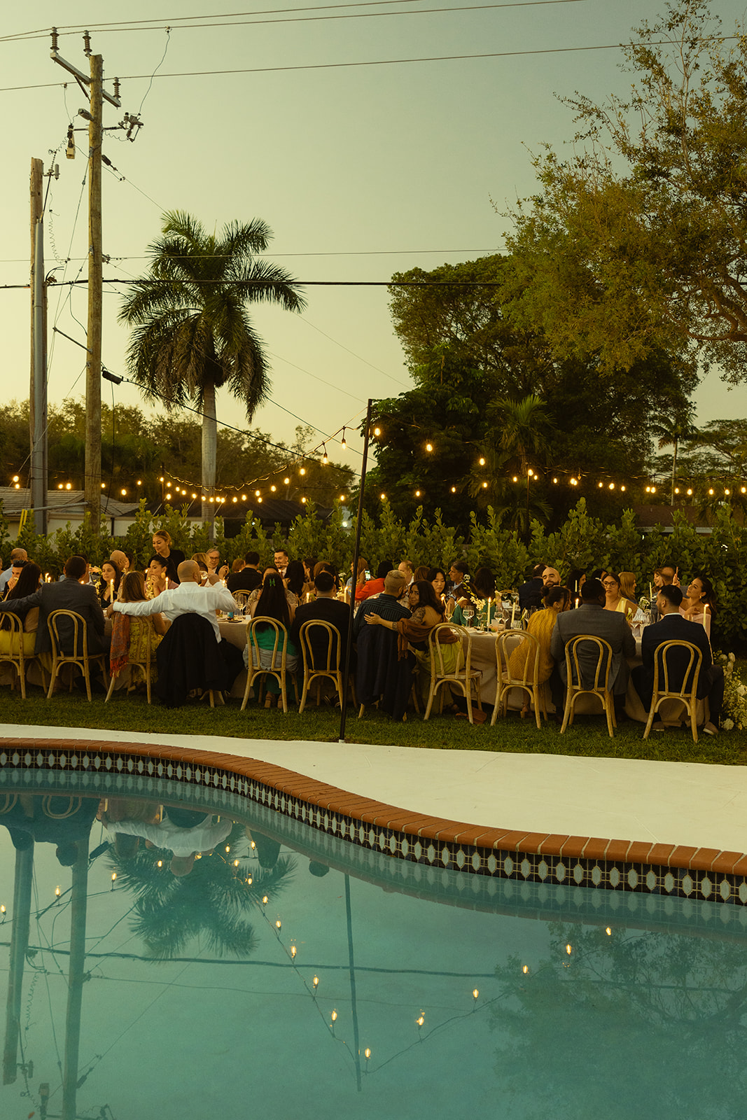
<path fill-rule="evenodd" d="M 290 556 L 298 559 L 317 557 L 330 560 L 339 571 L 347 571 L 353 559 L 354 531 L 343 528 L 343 511 L 339 507 L 325 524 L 316 516 L 314 506 L 309 505 L 308 512 L 296 519 L 287 534 L 279 526 L 268 534 L 251 512 L 237 536 L 225 538 L 220 517 L 214 524 L 214 540 L 211 542 L 207 525 L 193 526 L 176 510 L 167 515 L 152 516 L 141 503 L 134 523 L 123 538 L 112 538 L 103 532 L 101 538 L 96 538 L 86 519 L 75 532 L 68 524 L 50 538 L 38 536 L 30 528 L 25 528 L 18 543 L 28 550 L 44 572 L 53 576 L 59 575 L 65 559 L 73 552 L 83 552 L 93 563 L 101 563 L 115 547 L 132 552 L 136 564 L 142 566 L 152 553 L 155 529 L 166 529 L 175 548 L 181 549 L 186 556 L 205 551 L 208 543 L 214 543 L 228 562 L 253 549 L 260 553 L 261 562 L 268 563 L 278 547 L 287 547 Z M 0 526 L 0 545 L 6 554 L 10 547 L 7 528 L 7 523 Z M 430 564 L 448 571 L 454 560 L 465 559 L 473 571 L 482 566 L 491 568 L 501 588 L 523 582 L 526 570 L 540 561 L 558 568 L 562 578 L 571 568 L 585 571 L 611 568 L 634 572 L 641 594 L 647 594 L 654 568 L 669 562 L 679 567 L 683 586 L 700 572 L 713 582 L 720 605 L 715 646 L 721 645 L 727 650 L 747 646 L 747 580 L 744 578 L 747 528 L 735 523 L 726 508 L 718 511 L 710 533 L 697 532 L 683 515 L 675 512 L 672 532 L 664 533 L 656 529 L 643 534 L 636 529 L 631 510 L 623 513 L 618 523 L 605 525 L 588 515 L 586 502 L 581 498 L 554 533 L 545 533 L 539 522 L 533 522 L 527 549 L 515 532 L 499 528 L 489 507 L 484 521 L 471 514 L 469 535 L 465 538 L 443 524 L 440 511 L 429 522 L 423 519 L 422 510 L 418 510 L 412 521 L 404 524 L 387 503 L 382 503 L 376 521 L 367 513 L 363 514 L 361 554 L 374 570 L 383 560 L 396 564 L 407 557 L 415 568 Z"/>

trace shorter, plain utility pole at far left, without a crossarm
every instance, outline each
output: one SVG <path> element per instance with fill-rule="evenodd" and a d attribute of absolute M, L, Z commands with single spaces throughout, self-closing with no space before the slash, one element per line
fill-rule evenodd
<path fill-rule="evenodd" d="M 54 168 L 49 175 L 54 175 Z M 31 385 L 29 491 L 35 532 L 47 534 L 47 286 L 44 274 L 44 164 L 31 160 Z"/>

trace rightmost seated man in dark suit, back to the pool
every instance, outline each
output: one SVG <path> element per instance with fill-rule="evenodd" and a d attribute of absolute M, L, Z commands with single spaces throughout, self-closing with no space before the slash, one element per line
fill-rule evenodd
<path fill-rule="evenodd" d="M 641 640 L 641 656 L 643 664 L 633 670 L 633 683 L 641 697 L 644 708 L 651 708 L 651 700 L 654 690 L 654 656 L 656 647 L 663 642 L 690 642 L 697 646 L 702 654 L 700 665 L 700 676 L 698 678 L 697 696 L 699 700 L 708 697 L 710 720 L 703 726 L 707 735 L 718 735 L 721 708 L 723 707 L 723 670 L 720 665 L 713 664 L 710 642 L 703 626 L 689 618 L 683 617 L 682 590 L 672 584 L 664 584 L 656 595 L 656 609 L 661 622 L 646 626 Z M 684 681 L 684 673 L 688 668 L 690 654 L 687 650 L 674 650 L 667 659 L 669 687 L 670 690 L 679 691 Z M 662 665 L 660 662 L 660 688 L 663 688 Z M 690 684 L 688 679 L 688 684 Z M 660 730 L 663 725 L 654 728 Z"/>

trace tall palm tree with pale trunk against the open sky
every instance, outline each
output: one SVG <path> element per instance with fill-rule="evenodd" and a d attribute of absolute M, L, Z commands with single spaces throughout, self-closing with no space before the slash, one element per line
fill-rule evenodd
<path fill-rule="evenodd" d="M 215 391 L 227 385 L 248 420 L 267 396 L 269 365 L 248 302 L 302 311 L 298 283 L 256 260 L 272 234 L 260 218 L 231 222 L 220 237 L 183 211 L 164 215 L 162 236 L 148 246 L 148 276 L 137 280 L 119 318 L 134 329 L 128 366 L 148 401 L 168 409 L 192 402 L 203 413 L 203 520 L 215 506 Z"/>

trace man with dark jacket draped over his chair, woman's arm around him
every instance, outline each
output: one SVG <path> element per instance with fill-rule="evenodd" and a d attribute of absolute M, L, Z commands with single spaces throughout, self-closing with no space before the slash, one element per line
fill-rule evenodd
<path fill-rule="evenodd" d="M 383 592 L 364 603 L 353 623 L 353 636 L 357 640 L 355 689 L 358 703 L 370 704 L 379 700 L 381 710 L 394 719 L 404 716 L 414 659 L 407 652 L 407 644 L 400 643 L 395 631 L 370 626 L 366 619 L 372 614 L 390 623 L 409 618 L 410 612 L 398 601 L 403 590 L 402 572 L 387 572 Z"/>

